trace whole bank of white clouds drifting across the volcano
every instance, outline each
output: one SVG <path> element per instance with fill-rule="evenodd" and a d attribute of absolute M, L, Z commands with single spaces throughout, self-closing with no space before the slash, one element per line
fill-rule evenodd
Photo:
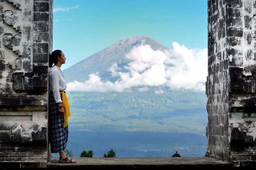
<path fill-rule="evenodd" d="M 173 42 L 173 49 L 169 51 L 153 50 L 150 45 L 133 47 L 126 54 L 131 60 L 124 66 L 128 72 L 122 72 L 117 63 L 108 69 L 113 77 L 118 76 L 116 82 L 102 82 L 96 74 L 90 74 L 89 80 L 84 83 L 70 82 L 67 90 L 70 91 L 123 91 L 134 86 L 166 85 L 170 89 L 190 89 L 205 91 L 207 76 L 207 49 L 188 49 Z M 142 87 L 139 91 L 148 90 Z M 163 90 L 156 90 L 163 93 Z"/>

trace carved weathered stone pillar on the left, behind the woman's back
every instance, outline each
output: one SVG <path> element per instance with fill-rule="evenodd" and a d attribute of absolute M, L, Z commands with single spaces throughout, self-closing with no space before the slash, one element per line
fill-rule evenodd
<path fill-rule="evenodd" d="M 46 167 L 51 158 L 52 19 L 52 0 L 0 0 L 0 167 Z"/>

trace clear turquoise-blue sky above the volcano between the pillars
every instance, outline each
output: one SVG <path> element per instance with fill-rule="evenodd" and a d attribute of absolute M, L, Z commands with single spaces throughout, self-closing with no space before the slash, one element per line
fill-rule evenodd
<path fill-rule="evenodd" d="M 129 37 L 207 48 L 207 0 L 54 0 L 53 10 L 53 50 L 67 58 L 61 70 Z"/>

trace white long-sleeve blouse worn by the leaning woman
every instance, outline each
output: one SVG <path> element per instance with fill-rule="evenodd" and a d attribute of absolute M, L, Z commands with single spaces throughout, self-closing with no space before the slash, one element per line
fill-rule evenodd
<path fill-rule="evenodd" d="M 53 91 L 53 97 L 56 103 L 62 102 L 59 91 L 67 88 L 65 77 L 58 66 L 49 67 L 49 89 Z"/>

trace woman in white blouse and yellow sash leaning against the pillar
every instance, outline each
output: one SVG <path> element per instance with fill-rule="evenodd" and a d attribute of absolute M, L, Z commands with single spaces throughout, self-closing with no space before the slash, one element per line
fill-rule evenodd
<path fill-rule="evenodd" d="M 60 69 L 66 57 L 61 50 L 49 54 L 49 141 L 52 153 L 59 153 L 59 162 L 75 163 L 64 152 L 68 142 L 68 117 L 70 116 L 66 90 L 67 83 Z M 54 63 L 54 65 L 53 65 Z"/>

